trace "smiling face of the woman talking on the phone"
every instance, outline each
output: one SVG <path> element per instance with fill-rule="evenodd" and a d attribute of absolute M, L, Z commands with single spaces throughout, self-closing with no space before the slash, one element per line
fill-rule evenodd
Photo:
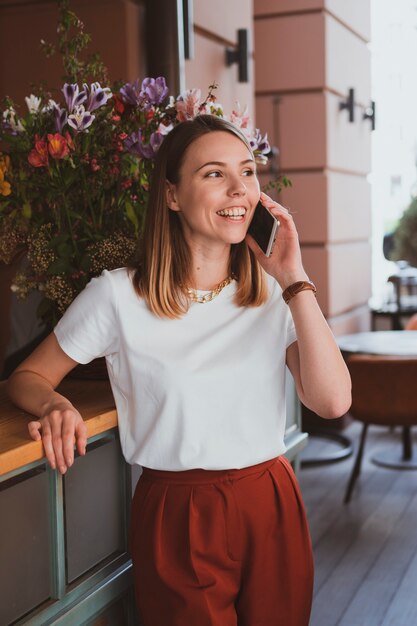
<path fill-rule="evenodd" d="M 238 137 L 215 131 L 196 139 L 179 183 L 167 185 L 168 206 L 178 211 L 191 246 L 243 241 L 260 189 L 253 156 Z"/>

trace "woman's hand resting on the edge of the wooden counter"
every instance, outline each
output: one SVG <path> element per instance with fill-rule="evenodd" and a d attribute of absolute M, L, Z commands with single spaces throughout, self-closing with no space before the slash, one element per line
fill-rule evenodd
<path fill-rule="evenodd" d="M 43 443 L 45 456 L 52 469 L 65 474 L 74 462 L 74 443 L 78 454 L 84 455 L 87 426 L 80 413 L 68 400 L 59 397 L 42 408 L 42 417 L 28 424 L 35 441 Z"/>

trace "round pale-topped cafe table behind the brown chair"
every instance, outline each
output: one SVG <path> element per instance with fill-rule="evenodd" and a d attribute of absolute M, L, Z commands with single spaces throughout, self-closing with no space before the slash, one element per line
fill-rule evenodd
<path fill-rule="evenodd" d="M 371 354 L 379 356 L 398 356 L 417 359 L 417 330 L 381 330 L 336 337 L 340 350 L 349 354 Z M 417 381 L 416 381 L 417 382 Z M 417 469 L 413 459 L 410 426 L 403 427 L 402 456 L 396 453 L 375 455 L 372 461 L 382 467 L 395 469 Z"/>

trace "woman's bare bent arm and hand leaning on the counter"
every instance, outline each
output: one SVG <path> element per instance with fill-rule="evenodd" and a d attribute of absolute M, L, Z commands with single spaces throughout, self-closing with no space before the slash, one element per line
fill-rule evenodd
<path fill-rule="evenodd" d="M 74 440 L 81 455 L 85 454 L 87 443 L 87 428 L 81 415 L 55 391 L 76 365 L 51 333 L 7 382 L 12 402 L 39 418 L 29 422 L 29 433 L 35 441 L 42 439 L 50 466 L 58 468 L 61 474 L 74 462 Z"/>

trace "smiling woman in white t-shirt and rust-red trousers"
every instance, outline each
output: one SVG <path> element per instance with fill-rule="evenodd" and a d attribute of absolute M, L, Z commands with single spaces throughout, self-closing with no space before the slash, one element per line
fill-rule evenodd
<path fill-rule="evenodd" d="M 259 198 L 281 222 L 268 258 L 246 234 Z M 292 217 L 260 193 L 232 124 L 202 115 L 171 131 L 137 266 L 93 279 L 10 379 L 63 474 L 86 429 L 54 388 L 101 355 L 124 455 L 144 468 L 131 522 L 143 625 L 306 626 L 311 545 L 282 456 L 285 363 L 326 418 L 348 409 L 350 379 Z"/>

